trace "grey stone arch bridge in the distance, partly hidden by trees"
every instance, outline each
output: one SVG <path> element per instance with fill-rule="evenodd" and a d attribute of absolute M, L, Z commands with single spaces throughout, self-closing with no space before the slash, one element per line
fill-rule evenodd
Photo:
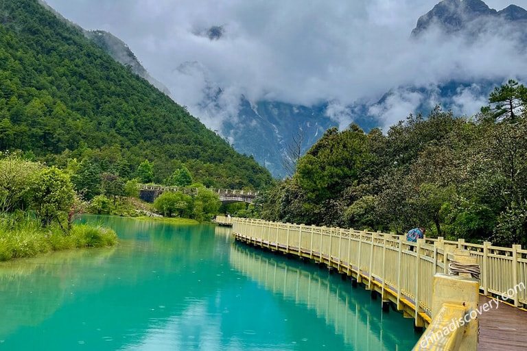
<path fill-rule="evenodd" d="M 159 185 L 139 185 L 139 197 L 145 202 L 154 202 L 154 200 L 165 193 L 165 191 L 181 191 L 185 194 L 195 195 L 199 188 L 187 188 L 183 186 L 159 186 Z M 233 189 L 215 189 L 207 188 L 220 195 L 222 204 L 232 204 L 233 202 L 246 202 L 253 204 L 255 198 L 259 196 L 258 191 L 252 190 L 233 190 Z"/>

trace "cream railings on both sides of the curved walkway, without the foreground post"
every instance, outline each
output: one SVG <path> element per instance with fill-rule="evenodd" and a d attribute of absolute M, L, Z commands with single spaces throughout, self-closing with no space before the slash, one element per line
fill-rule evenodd
<path fill-rule="evenodd" d="M 527 303 L 526 289 L 515 289 L 527 280 L 527 250 L 519 245 L 493 247 L 442 238 L 410 243 L 395 234 L 238 218 L 233 219 L 233 236 L 338 269 L 381 295 L 383 306 L 395 304 L 417 327 L 432 322 L 434 275 L 447 273 L 455 249 L 467 250 L 481 267 L 481 293 L 517 307 Z"/>

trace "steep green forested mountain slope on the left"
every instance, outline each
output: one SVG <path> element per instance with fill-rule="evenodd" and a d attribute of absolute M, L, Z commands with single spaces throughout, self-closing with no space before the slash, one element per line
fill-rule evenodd
<path fill-rule="evenodd" d="M 207 186 L 272 182 L 137 67 L 101 49 L 112 40 L 121 45 L 104 33 L 86 36 L 37 0 L 0 0 L 0 151 L 124 179 L 148 160 L 156 182 L 181 167 Z"/>

